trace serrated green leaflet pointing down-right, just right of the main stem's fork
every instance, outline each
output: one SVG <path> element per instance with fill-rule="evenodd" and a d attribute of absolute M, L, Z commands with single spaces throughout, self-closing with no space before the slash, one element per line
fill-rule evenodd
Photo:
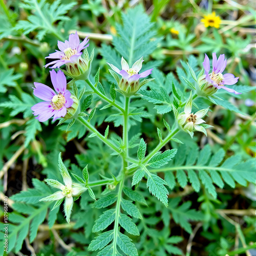
<path fill-rule="evenodd" d="M 169 193 L 164 185 L 167 185 L 167 183 L 163 179 L 155 174 L 148 173 L 146 187 L 153 196 L 157 197 L 167 207 L 167 195 Z"/>

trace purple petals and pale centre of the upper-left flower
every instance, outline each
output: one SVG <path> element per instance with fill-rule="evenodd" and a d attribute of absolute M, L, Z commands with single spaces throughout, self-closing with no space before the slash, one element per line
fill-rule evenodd
<path fill-rule="evenodd" d="M 88 36 L 87 36 L 88 37 Z M 69 35 L 69 40 L 66 40 L 65 42 L 58 41 L 58 48 L 60 51 L 55 50 L 56 52 L 50 53 L 48 57 L 50 59 L 57 59 L 54 60 L 44 67 L 48 67 L 50 65 L 53 65 L 50 67 L 51 69 L 59 68 L 63 64 L 66 63 L 77 63 L 81 59 L 82 50 L 84 48 L 87 48 L 89 44 L 89 39 L 87 37 L 81 42 L 78 37 L 77 32 L 75 34 Z"/>

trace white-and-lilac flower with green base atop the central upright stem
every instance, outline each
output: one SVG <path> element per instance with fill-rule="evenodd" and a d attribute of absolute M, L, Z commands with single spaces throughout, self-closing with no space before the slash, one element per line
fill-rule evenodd
<path fill-rule="evenodd" d="M 146 77 L 152 73 L 153 69 L 146 70 L 142 73 L 139 74 L 139 71 L 142 68 L 142 62 L 143 62 L 143 57 L 141 57 L 139 60 L 137 60 L 132 68 L 129 68 L 128 63 L 125 61 L 125 59 L 122 57 L 121 59 L 121 65 L 122 65 L 122 70 L 119 70 L 117 67 L 114 65 L 108 63 L 110 67 L 119 75 L 121 75 L 121 79 L 118 81 L 118 86 L 119 88 L 127 92 L 128 94 L 131 92 L 136 93 L 140 87 L 143 84 L 139 83 L 139 79 Z"/>

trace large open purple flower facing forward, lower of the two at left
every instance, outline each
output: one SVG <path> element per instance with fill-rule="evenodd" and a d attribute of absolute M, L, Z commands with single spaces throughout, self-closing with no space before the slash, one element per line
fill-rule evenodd
<path fill-rule="evenodd" d="M 67 90 L 67 79 L 62 71 L 56 73 L 50 71 L 53 87 L 57 94 L 43 83 L 34 82 L 34 95 L 42 100 L 32 106 L 33 114 L 40 122 L 44 122 L 53 116 L 53 121 L 57 118 L 65 117 L 67 108 L 73 104 L 70 91 Z"/>

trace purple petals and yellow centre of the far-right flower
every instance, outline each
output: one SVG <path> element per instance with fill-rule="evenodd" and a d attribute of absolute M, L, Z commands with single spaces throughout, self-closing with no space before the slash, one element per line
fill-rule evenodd
<path fill-rule="evenodd" d="M 205 71 L 205 80 L 212 84 L 217 89 L 224 89 L 230 93 L 234 94 L 241 94 L 233 89 L 227 88 L 224 86 L 224 84 L 231 86 L 232 84 L 235 84 L 238 81 L 239 77 L 234 77 L 233 74 L 222 74 L 224 69 L 227 66 L 227 60 L 225 59 L 225 55 L 221 54 L 220 57 L 217 60 L 216 53 L 212 53 L 212 72 L 209 74 L 210 71 L 210 60 L 208 56 L 205 54 L 203 67 Z"/>

